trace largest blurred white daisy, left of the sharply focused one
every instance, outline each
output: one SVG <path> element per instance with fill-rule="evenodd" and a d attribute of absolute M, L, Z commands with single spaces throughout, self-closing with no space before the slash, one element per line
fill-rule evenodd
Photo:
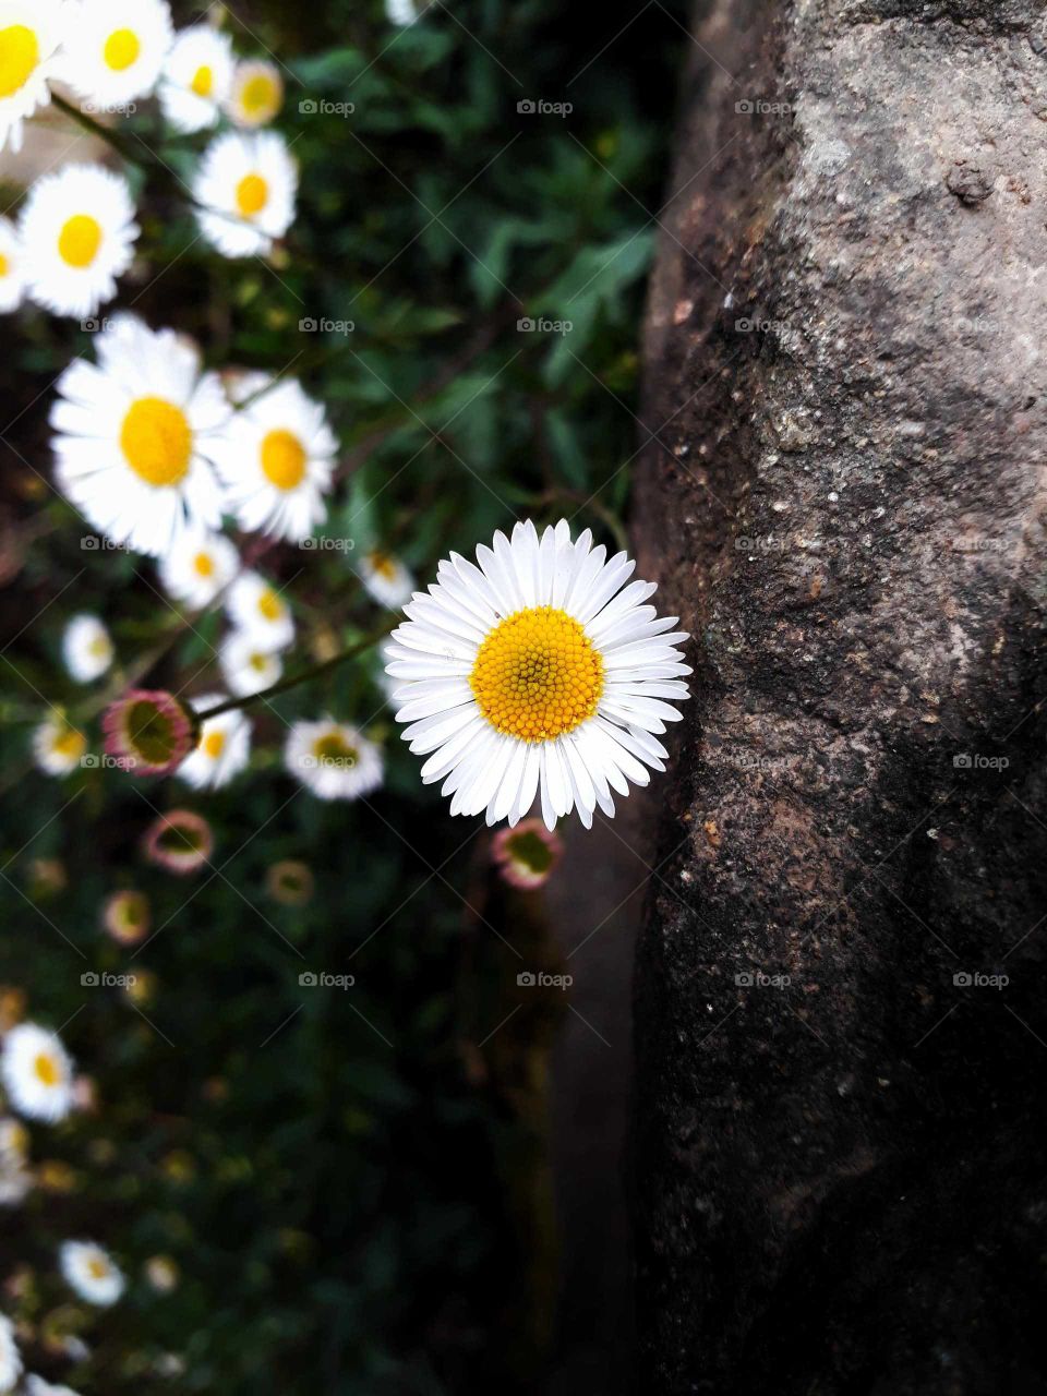
<path fill-rule="evenodd" d="M 191 341 L 137 315 L 117 315 L 95 352 L 98 366 L 78 359 L 59 378 L 56 479 L 114 543 L 162 557 L 221 524 L 209 461 L 229 403 Z"/>

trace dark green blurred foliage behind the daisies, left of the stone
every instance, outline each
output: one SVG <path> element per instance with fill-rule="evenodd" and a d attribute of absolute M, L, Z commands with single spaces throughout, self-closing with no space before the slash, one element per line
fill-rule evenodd
<path fill-rule="evenodd" d="M 424 582 L 450 547 L 469 553 L 518 517 L 567 515 L 621 540 L 681 17 L 448 0 L 399 31 L 356 0 L 239 8 L 237 50 L 285 66 L 276 124 L 302 172 L 269 265 L 222 261 L 195 236 L 181 181 L 207 135 L 170 138 L 149 103 L 120 124 L 144 233 L 116 304 L 194 335 L 212 367 L 300 377 L 342 444 L 322 533 L 352 550 L 258 560 L 296 614 L 288 667 L 374 625 L 353 571 L 371 544 Z M 574 110 L 518 112 L 524 101 Z M 524 317 L 572 328 L 526 332 Z M 355 328 L 300 328 L 325 320 Z M 80 720 L 105 691 L 85 698 L 64 676 L 71 613 L 109 624 L 117 683 L 188 695 L 221 687 L 222 620 L 180 616 L 147 560 L 81 547 L 82 521 L 47 483 L 46 416 L 53 378 L 91 336 L 34 311 L 6 328 L 0 983 L 61 1030 L 99 1107 L 32 1128 L 34 1164 L 50 1167 L 0 1215 L 0 1304 L 31 1333 L 34 1369 L 84 1393 L 515 1390 L 529 1358 L 493 1335 L 515 1293 L 498 1160 L 522 1127 L 469 1046 L 503 1007 L 463 934 L 486 835 L 420 786 L 374 659 L 258 709 L 250 772 L 214 796 L 119 771 L 34 772 L 46 704 Z M 282 773 L 285 723 L 322 712 L 385 740 L 387 787 L 366 804 L 324 805 Z M 195 879 L 140 856 L 154 812 L 176 805 L 216 832 Z M 307 906 L 267 892 L 279 859 L 311 867 Z M 99 927 L 120 886 L 145 891 L 161 927 L 137 956 Z M 151 1000 L 81 986 L 103 969 L 148 970 Z M 304 970 L 357 983 L 303 988 Z M 71 1302 L 54 1268 L 68 1235 L 126 1268 L 112 1312 Z M 142 1282 L 156 1254 L 179 1265 L 170 1295 Z M 78 1364 L 52 1342 L 70 1330 L 92 1350 Z M 170 1353 L 174 1378 L 159 1375 Z"/>

